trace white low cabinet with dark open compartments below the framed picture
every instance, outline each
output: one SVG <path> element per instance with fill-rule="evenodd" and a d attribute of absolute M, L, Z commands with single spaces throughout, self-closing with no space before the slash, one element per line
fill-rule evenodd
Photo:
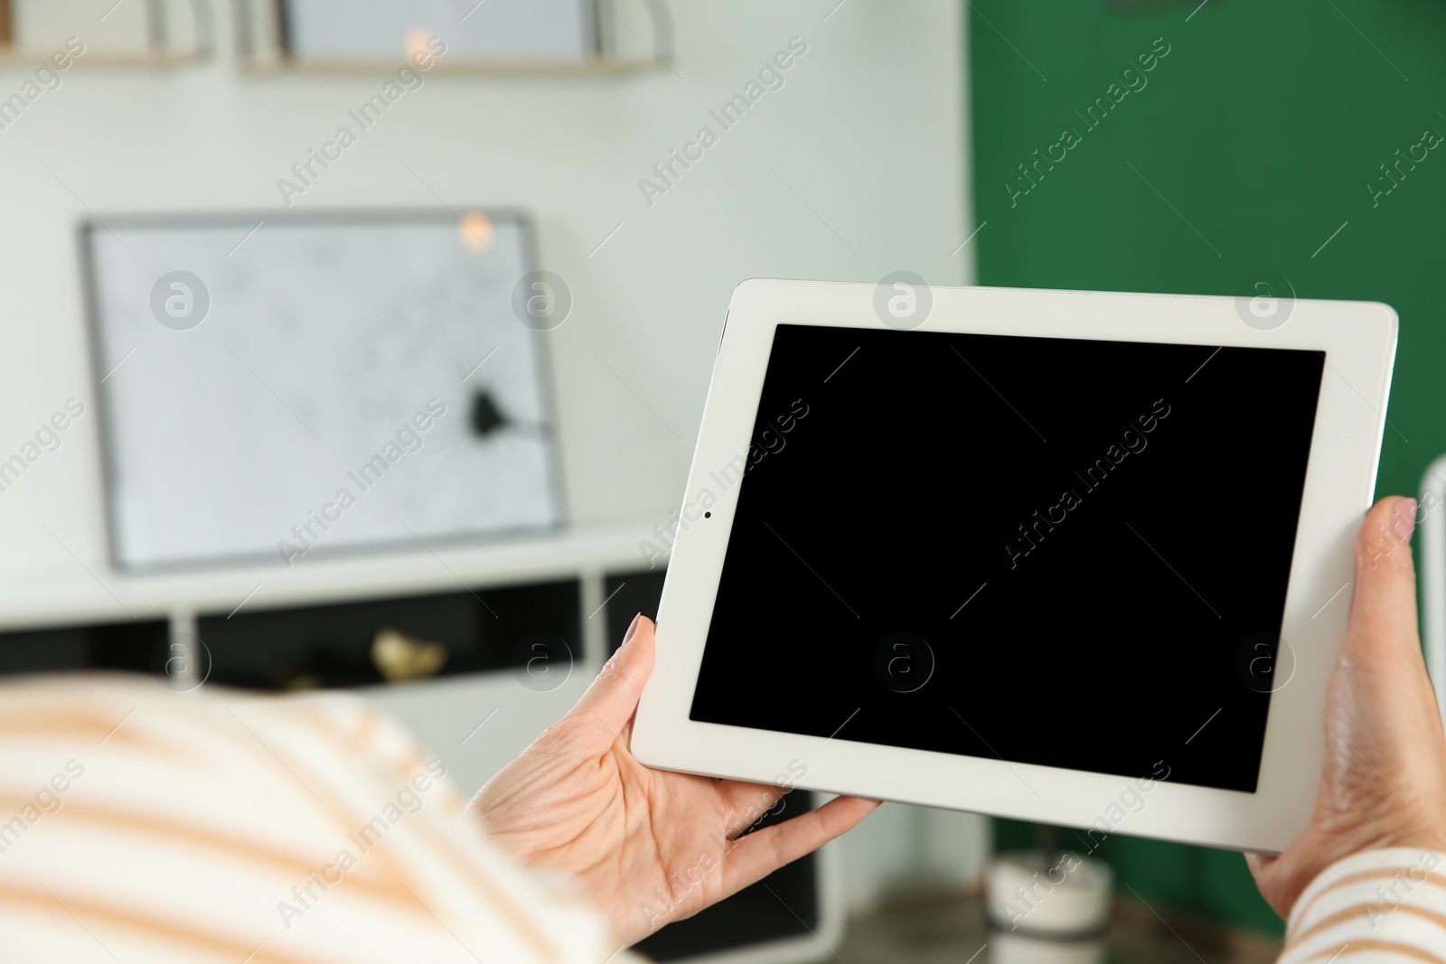
<path fill-rule="evenodd" d="M 353 688 L 403 718 L 444 754 L 458 783 L 474 789 L 565 713 L 602 668 L 617 627 L 636 611 L 610 611 L 609 594 L 617 590 L 615 603 L 639 608 L 656 604 L 662 568 L 646 574 L 638 549 L 652 538 L 651 525 L 639 522 L 314 556 L 292 569 L 279 559 L 156 574 L 77 567 L 64 582 L 0 587 L 0 675 L 124 671 L 178 691 Z M 639 572 L 642 582 L 623 585 Z M 635 595 L 649 577 L 651 588 Z M 451 668 L 444 663 L 431 679 L 382 682 L 369 645 L 388 627 L 442 639 Z M 519 682 L 516 646 L 536 632 L 567 643 L 557 685 Z M 283 663 L 286 672 L 275 672 Z M 466 741 L 492 710 L 508 723 Z"/>

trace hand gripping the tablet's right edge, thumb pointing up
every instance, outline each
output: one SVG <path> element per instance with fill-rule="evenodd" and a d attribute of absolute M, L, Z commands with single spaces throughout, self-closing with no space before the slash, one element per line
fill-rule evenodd
<path fill-rule="evenodd" d="M 1416 630 L 1414 525 L 1411 499 L 1382 499 L 1366 513 L 1351 623 L 1326 692 L 1314 818 L 1278 857 L 1246 857 L 1283 918 L 1342 857 L 1378 847 L 1446 850 L 1446 736 Z"/>

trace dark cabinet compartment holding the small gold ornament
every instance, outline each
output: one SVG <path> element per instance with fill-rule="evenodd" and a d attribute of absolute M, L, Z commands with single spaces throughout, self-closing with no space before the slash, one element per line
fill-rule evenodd
<path fill-rule="evenodd" d="M 399 595 L 359 603 L 214 614 L 197 620 L 208 682 L 244 689 L 366 687 L 386 682 L 372 643 L 395 629 L 447 647 L 437 676 L 509 671 L 541 640 L 581 660 L 576 580 L 476 593 Z M 204 656 L 202 656 L 204 660 Z"/>

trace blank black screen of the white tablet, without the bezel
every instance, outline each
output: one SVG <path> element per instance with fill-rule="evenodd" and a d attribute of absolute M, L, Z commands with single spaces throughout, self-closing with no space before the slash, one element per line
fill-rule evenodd
<path fill-rule="evenodd" d="M 1323 364 L 779 325 L 691 718 L 1254 792 Z"/>

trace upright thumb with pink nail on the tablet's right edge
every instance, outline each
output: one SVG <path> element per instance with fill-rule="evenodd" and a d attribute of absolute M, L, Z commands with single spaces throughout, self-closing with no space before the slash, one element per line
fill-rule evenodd
<path fill-rule="evenodd" d="M 1416 500 L 1400 496 L 1375 503 L 1361 523 L 1348 646 L 1420 652 L 1410 545 L 1414 525 Z"/>

